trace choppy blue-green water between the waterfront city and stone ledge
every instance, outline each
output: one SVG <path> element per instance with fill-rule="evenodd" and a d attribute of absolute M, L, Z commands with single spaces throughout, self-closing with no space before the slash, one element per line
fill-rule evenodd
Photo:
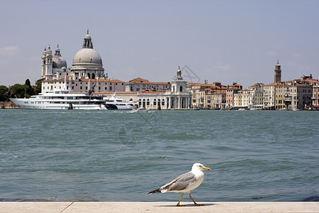
<path fill-rule="evenodd" d="M 177 202 L 147 192 L 197 162 L 198 202 L 319 195 L 318 111 L 2 109 L 0 124 L 2 201 Z"/>

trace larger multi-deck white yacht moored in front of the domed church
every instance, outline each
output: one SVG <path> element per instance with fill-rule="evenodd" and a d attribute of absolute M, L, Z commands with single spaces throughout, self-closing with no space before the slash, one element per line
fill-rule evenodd
<path fill-rule="evenodd" d="M 20 109 L 106 109 L 103 97 L 72 93 L 65 87 L 55 89 L 29 99 L 11 99 Z"/>

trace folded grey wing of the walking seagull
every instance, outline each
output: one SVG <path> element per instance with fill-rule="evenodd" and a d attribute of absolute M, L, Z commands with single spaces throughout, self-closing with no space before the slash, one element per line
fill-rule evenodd
<path fill-rule="evenodd" d="M 186 187 L 189 187 L 189 185 L 192 185 L 194 182 L 196 182 L 196 178 L 193 173 L 184 173 L 183 175 L 179 175 L 179 177 L 172 180 L 172 182 L 163 185 L 161 189 L 167 191 L 184 190 L 186 189 Z"/>

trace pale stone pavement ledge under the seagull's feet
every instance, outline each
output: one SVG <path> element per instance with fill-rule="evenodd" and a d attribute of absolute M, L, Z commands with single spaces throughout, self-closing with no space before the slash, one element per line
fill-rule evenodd
<path fill-rule="evenodd" d="M 1 213 L 21 212 L 318 212 L 319 202 L 183 202 L 186 207 L 176 207 L 176 202 L 0 202 Z"/>

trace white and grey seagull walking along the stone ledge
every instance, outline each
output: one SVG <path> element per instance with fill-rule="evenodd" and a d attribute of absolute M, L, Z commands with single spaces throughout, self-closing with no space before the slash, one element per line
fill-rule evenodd
<path fill-rule="evenodd" d="M 193 200 L 196 206 L 203 206 L 203 204 L 197 204 L 193 197 L 191 197 L 191 190 L 195 190 L 201 182 L 203 182 L 204 173 L 203 170 L 211 170 L 210 168 L 204 166 L 201 163 L 194 163 L 191 171 L 188 173 L 184 173 L 183 175 L 179 175 L 179 177 L 175 178 L 171 182 L 163 185 L 157 190 L 153 190 L 152 192 L 148 192 L 148 194 L 158 193 L 158 192 L 182 192 L 181 197 L 183 197 L 184 193 L 189 193 L 189 197 Z M 181 198 L 179 198 L 179 202 L 181 202 Z M 181 205 L 177 203 L 177 207 L 184 207 L 185 205 Z"/>

